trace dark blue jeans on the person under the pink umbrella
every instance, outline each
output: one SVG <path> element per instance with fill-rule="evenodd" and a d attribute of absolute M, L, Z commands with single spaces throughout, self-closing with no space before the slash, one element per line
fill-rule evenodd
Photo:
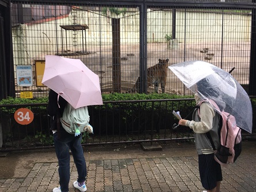
<path fill-rule="evenodd" d="M 77 167 L 78 182 L 84 182 L 86 178 L 86 163 L 84 151 L 81 145 L 82 134 L 75 137 L 73 134 L 65 134 L 61 140 L 58 138 L 58 133 L 54 133 L 55 152 L 59 163 L 59 184 L 61 191 L 69 191 L 70 180 L 70 155 L 69 149 L 74 158 L 74 163 Z"/>

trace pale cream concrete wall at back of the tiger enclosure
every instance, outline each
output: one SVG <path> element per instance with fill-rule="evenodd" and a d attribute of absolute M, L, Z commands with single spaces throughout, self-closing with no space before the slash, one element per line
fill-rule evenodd
<path fill-rule="evenodd" d="M 74 11 L 73 11 L 74 12 Z M 14 65 L 31 63 L 30 58 L 42 59 L 45 54 L 55 54 L 62 51 L 62 40 L 66 51 L 66 33 L 59 25 L 73 24 L 73 12 L 57 21 L 47 21 L 37 24 L 25 24 L 13 27 Z M 86 44 L 99 46 L 112 44 L 111 18 L 104 17 L 99 12 L 77 11 L 77 23 L 86 24 Z M 130 15 L 130 16 L 129 16 Z M 185 16 L 186 15 L 186 16 Z M 121 43 L 137 44 L 140 41 L 140 14 L 127 13 L 121 18 Z M 165 34 L 172 32 L 172 12 L 148 10 L 147 42 L 163 43 Z M 251 15 L 221 14 L 203 12 L 176 11 L 176 39 L 180 43 L 220 43 L 232 42 L 237 39 L 250 41 Z M 222 28 L 223 25 L 223 28 Z M 57 31 L 55 30 L 57 29 Z M 186 30 L 186 31 L 185 31 Z M 222 33 L 223 32 L 223 33 Z M 82 31 L 76 32 L 77 43 L 72 42 L 73 31 L 67 31 L 69 50 L 78 51 L 82 46 Z M 85 35 L 85 34 L 84 34 Z M 84 42 L 85 43 L 85 42 Z"/>

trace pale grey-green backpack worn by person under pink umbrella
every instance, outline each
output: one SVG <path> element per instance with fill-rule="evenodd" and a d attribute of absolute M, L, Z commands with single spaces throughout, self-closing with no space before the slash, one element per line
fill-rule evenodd
<path fill-rule="evenodd" d="M 60 121 L 67 133 L 75 134 L 75 136 L 84 131 L 93 133 L 92 126 L 89 125 L 90 116 L 87 106 L 75 109 L 67 103 Z"/>

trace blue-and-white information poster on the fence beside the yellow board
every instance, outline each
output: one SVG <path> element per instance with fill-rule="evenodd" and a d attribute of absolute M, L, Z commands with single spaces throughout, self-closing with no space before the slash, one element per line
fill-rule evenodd
<path fill-rule="evenodd" d="M 32 66 L 31 65 L 17 65 L 17 85 L 18 86 L 32 86 Z"/>

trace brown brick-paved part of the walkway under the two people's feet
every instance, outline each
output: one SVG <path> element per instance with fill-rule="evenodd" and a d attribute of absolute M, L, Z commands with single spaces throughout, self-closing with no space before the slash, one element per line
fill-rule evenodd
<path fill-rule="evenodd" d="M 236 163 L 223 167 L 221 192 L 256 191 L 255 156 L 251 154 L 246 153 Z M 197 158 L 195 155 L 86 161 L 86 186 L 91 192 L 202 191 Z M 73 187 L 77 176 L 71 161 L 69 192 L 78 192 Z M 0 178 L 0 192 L 52 192 L 58 182 L 57 162 L 35 163 L 25 178 Z"/>

